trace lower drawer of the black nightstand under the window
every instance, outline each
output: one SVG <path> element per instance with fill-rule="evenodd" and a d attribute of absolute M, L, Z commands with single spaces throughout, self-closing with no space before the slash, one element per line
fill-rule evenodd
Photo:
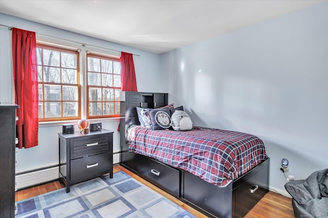
<path fill-rule="evenodd" d="M 104 175 L 112 167 L 111 152 L 71 160 L 71 183 Z"/>

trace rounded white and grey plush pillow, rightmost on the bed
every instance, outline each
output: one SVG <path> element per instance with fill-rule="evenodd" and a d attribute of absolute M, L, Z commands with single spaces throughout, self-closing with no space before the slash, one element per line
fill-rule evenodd
<path fill-rule="evenodd" d="M 193 122 L 188 113 L 182 110 L 176 110 L 171 116 L 171 126 L 175 131 L 191 130 Z"/>

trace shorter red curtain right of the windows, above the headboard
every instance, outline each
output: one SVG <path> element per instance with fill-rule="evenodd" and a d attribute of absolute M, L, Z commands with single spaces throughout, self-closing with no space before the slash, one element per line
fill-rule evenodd
<path fill-rule="evenodd" d="M 137 91 L 133 54 L 121 52 L 121 91 Z"/>

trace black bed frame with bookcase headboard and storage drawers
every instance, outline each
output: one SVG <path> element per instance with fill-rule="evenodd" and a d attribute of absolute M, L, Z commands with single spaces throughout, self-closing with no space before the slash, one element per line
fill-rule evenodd
<path fill-rule="evenodd" d="M 269 191 L 269 158 L 227 187 L 218 187 L 182 169 L 129 152 L 126 129 L 139 123 L 135 107 L 167 104 L 167 93 L 121 93 L 120 164 L 207 216 L 243 217 Z"/>

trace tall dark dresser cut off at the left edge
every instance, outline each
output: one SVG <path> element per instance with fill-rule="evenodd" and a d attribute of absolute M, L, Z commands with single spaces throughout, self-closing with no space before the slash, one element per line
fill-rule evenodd
<path fill-rule="evenodd" d="M 0 217 L 15 217 L 15 104 L 0 104 Z"/>

